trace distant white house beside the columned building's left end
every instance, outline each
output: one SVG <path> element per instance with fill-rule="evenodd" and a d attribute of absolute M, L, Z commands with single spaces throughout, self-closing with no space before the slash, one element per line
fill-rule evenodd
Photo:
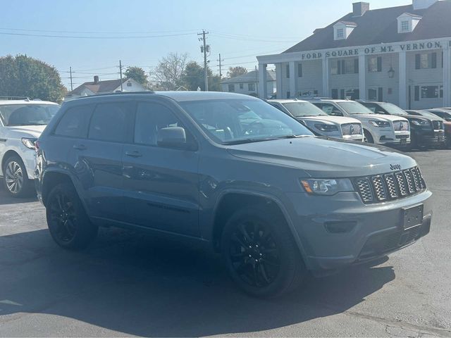
<path fill-rule="evenodd" d="M 234 92 L 239 94 L 259 95 L 259 74 L 252 70 L 249 73 L 238 75 L 230 79 L 222 80 L 221 86 L 223 92 Z M 266 71 L 266 95 L 271 96 L 276 91 L 276 72 L 274 70 Z"/>

